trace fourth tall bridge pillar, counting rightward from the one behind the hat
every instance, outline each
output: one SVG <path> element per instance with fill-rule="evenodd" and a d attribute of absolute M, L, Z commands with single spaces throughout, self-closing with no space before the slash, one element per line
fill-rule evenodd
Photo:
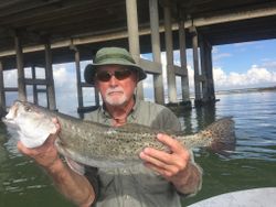
<path fill-rule="evenodd" d="M 181 18 L 179 22 L 179 51 L 181 68 L 184 70 L 184 76 L 181 76 L 181 88 L 182 88 L 182 100 L 190 102 L 190 90 L 189 90 L 189 76 L 187 68 L 187 46 L 185 46 L 185 29 L 184 21 Z"/>

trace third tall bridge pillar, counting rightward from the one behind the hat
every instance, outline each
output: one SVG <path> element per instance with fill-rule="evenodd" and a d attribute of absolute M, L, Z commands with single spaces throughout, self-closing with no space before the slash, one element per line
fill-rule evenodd
<path fill-rule="evenodd" d="M 167 79 L 169 102 L 177 102 L 176 73 L 173 67 L 173 47 L 172 47 L 172 29 L 171 29 L 171 11 L 167 1 L 163 8 L 164 13 L 164 40 L 167 54 Z"/>

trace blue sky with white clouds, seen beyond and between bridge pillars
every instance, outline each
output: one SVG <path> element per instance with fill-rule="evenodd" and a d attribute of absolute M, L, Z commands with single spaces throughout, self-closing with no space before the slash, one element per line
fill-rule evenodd
<path fill-rule="evenodd" d="M 174 64 L 180 65 L 179 51 L 174 51 Z M 142 54 L 142 58 L 151 58 L 150 54 Z M 192 50 L 187 51 L 188 74 L 191 96 L 193 96 L 193 61 Z M 163 83 L 167 86 L 166 54 L 161 54 L 163 63 Z M 215 90 L 255 88 L 276 86 L 276 40 L 236 43 L 213 46 L 213 78 Z M 89 62 L 82 62 L 81 68 Z M 25 77 L 31 77 L 31 69 L 25 68 Z M 72 112 L 77 106 L 76 73 L 74 63 L 53 65 L 56 105 L 63 112 Z M 38 68 L 39 78 L 44 78 L 44 69 Z M 83 79 L 83 77 L 82 77 Z M 17 87 L 17 70 L 4 72 L 4 87 Z M 167 87 L 166 87 L 167 88 Z M 178 95 L 181 92 L 180 78 L 177 77 Z M 94 90 L 85 88 L 85 106 L 94 102 Z M 146 99 L 153 97 L 152 76 L 144 80 Z M 14 99 L 14 92 L 7 92 L 7 106 Z M 32 90 L 28 87 L 28 100 L 32 101 Z M 45 96 L 39 97 L 40 105 L 45 106 Z"/>

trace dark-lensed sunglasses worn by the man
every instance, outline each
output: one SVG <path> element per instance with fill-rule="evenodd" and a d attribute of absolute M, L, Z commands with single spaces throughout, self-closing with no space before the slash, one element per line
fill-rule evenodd
<path fill-rule="evenodd" d="M 115 70 L 114 73 L 99 70 L 96 73 L 95 77 L 99 81 L 109 81 L 113 76 L 115 76 L 116 79 L 118 80 L 124 80 L 128 78 L 130 75 L 131 72 L 129 69 Z"/>

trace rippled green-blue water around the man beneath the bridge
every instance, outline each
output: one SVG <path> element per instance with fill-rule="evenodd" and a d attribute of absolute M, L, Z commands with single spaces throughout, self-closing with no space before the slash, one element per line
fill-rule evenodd
<path fill-rule="evenodd" d="M 202 190 L 183 206 L 217 194 L 276 186 L 276 91 L 221 95 L 215 106 L 179 113 L 187 133 L 214 120 L 232 116 L 236 148 L 227 156 L 197 150 L 195 161 L 204 171 Z M 0 122 L 0 207 L 71 207 L 51 179 L 17 151 L 15 141 Z"/>

